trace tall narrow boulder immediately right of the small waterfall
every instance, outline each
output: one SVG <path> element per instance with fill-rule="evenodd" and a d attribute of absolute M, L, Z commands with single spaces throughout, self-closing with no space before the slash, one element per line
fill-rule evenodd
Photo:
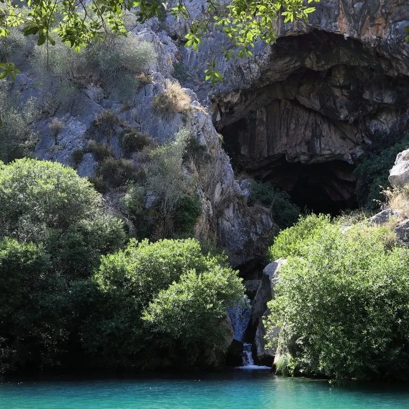
<path fill-rule="evenodd" d="M 278 259 L 268 264 L 263 270 L 261 284 L 257 289 L 256 296 L 252 303 L 252 319 L 250 327 L 253 331 L 256 331 L 260 318 L 267 309 L 267 302 L 274 298 L 274 286 L 280 278 L 280 268 L 286 262 L 286 259 Z"/>

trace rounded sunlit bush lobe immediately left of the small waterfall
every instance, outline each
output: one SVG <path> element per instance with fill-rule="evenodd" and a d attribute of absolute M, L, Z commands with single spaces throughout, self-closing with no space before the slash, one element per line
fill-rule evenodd
<path fill-rule="evenodd" d="M 243 285 L 231 268 L 212 264 L 201 274 L 185 272 L 149 304 L 143 319 L 155 332 L 165 334 L 163 344 L 178 340 L 193 351 L 216 342 L 218 323 L 226 309 L 240 301 Z"/>

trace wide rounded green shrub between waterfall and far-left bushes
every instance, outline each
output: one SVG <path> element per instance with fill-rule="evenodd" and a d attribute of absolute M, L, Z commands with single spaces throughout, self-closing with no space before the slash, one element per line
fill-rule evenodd
<path fill-rule="evenodd" d="M 93 280 L 103 298 L 83 326 L 83 345 L 100 362 L 115 366 L 143 366 L 147 351 L 177 349 L 181 336 L 186 337 L 182 343 L 201 349 L 212 342 L 226 307 L 243 293 L 224 259 L 203 255 L 193 239 L 133 240 L 123 251 L 102 257 Z"/>

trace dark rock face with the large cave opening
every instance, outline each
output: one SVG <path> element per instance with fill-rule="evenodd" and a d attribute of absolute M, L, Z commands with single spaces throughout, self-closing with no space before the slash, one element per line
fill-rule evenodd
<path fill-rule="evenodd" d="M 200 4 L 191 3 L 194 15 Z M 167 24 L 182 39 L 183 23 Z M 362 145 L 407 129 L 407 25 L 409 5 L 401 0 L 321 0 L 307 23 L 281 21 L 277 44 L 256 44 L 249 60 L 220 61 L 222 84 L 187 84 L 199 99 L 210 96 L 216 128 L 244 170 L 299 202 L 316 196 L 317 206 L 326 199 L 348 207 Z M 222 36 L 209 38 L 218 55 Z M 181 49 L 191 78 L 200 78 L 210 46 L 197 54 Z"/>

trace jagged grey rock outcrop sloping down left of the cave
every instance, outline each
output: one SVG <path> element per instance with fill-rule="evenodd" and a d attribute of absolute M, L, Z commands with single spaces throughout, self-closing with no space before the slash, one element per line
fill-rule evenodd
<path fill-rule="evenodd" d="M 22 74 L 17 76 L 12 92 L 22 103 L 30 98 L 36 106 L 47 112 L 34 124 L 39 141 L 34 155 L 43 160 L 58 161 L 74 166 L 72 154 L 76 150 L 86 152 L 89 135 L 93 134 L 99 143 L 108 144 L 115 157 L 123 157 L 119 135 L 124 122 L 144 134 L 151 135 L 162 144 L 173 138 L 181 128 L 189 130 L 196 140 L 206 146 L 210 155 L 207 171 L 199 172 L 199 195 L 202 214 L 195 228 L 195 236 L 216 242 L 230 256 L 233 266 L 245 264 L 254 257 L 262 257 L 268 240 L 277 231 L 270 213 L 261 207 L 249 208 L 245 192 L 235 180 L 230 158 L 221 147 L 219 134 L 213 126 L 211 116 L 188 88 L 184 91 L 191 99 L 190 109 L 163 115 L 152 105 L 156 95 L 165 87 L 165 79 L 174 81 L 173 63 L 179 51 L 171 38 L 160 28 L 157 19 L 135 28 L 135 39 L 148 41 L 154 45 L 157 62 L 149 68 L 151 83 L 142 84 L 124 103 L 115 89 L 103 89 L 89 83 L 78 89 L 69 103 L 53 105 L 58 81 L 48 87 L 37 85 L 37 74 L 30 61 L 19 65 Z M 95 127 L 98 114 L 112 111 L 119 122 L 108 135 L 102 135 Z M 60 122 L 56 133 L 50 127 L 53 117 Z M 93 153 L 86 152 L 77 169 L 81 176 L 92 176 L 98 162 Z M 135 164 L 138 166 L 138 164 Z"/>

